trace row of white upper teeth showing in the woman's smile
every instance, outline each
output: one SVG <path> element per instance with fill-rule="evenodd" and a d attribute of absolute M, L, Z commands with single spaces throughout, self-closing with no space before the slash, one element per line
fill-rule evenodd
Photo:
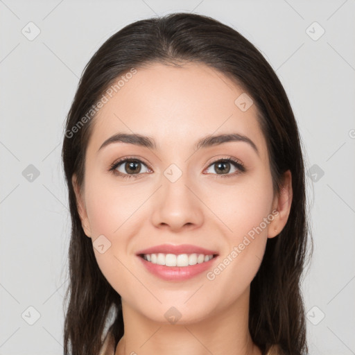
<path fill-rule="evenodd" d="M 213 258 L 213 255 L 204 254 L 144 254 L 143 258 L 151 263 L 166 266 L 189 266 L 196 265 L 196 263 L 204 263 Z"/>

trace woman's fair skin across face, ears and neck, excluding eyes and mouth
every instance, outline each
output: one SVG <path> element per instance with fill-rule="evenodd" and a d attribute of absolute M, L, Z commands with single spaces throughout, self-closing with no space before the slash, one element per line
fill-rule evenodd
<path fill-rule="evenodd" d="M 79 192 L 75 175 L 73 185 L 85 234 L 93 243 L 102 234 L 111 243 L 103 254 L 94 252 L 122 299 L 125 334 L 116 355 L 261 354 L 248 330 L 250 282 L 267 239 L 286 224 L 291 173 L 285 173 L 281 193 L 274 194 L 257 107 L 242 112 L 234 104 L 242 93 L 204 64 L 154 63 L 137 68 L 93 122 L 85 186 Z M 98 152 L 118 132 L 152 137 L 157 149 L 118 142 Z M 230 132 L 249 137 L 259 155 L 243 141 L 193 150 L 202 137 Z M 109 171 L 119 158 L 132 156 L 143 162 L 138 178 Z M 212 162 L 228 156 L 247 171 L 230 164 L 229 172 L 218 174 Z M 182 171 L 176 182 L 164 176 L 171 164 Z M 134 174 L 124 162 L 117 169 Z M 187 281 L 167 282 L 150 274 L 135 255 L 153 245 L 188 243 L 217 250 L 222 261 L 274 209 L 277 216 L 213 280 L 202 272 Z M 182 315 L 175 324 L 164 317 L 171 306 Z"/>

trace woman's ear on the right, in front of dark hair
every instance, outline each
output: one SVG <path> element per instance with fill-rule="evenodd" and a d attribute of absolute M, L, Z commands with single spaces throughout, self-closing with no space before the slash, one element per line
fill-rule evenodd
<path fill-rule="evenodd" d="M 284 173 L 282 187 L 272 204 L 272 211 L 275 211 L 272 214 L 275 217 L 268 225 L 268 238 L 274 238 L 284 229 L 290 214 L 292 197 L 292 176 L 288 170 Z"/>

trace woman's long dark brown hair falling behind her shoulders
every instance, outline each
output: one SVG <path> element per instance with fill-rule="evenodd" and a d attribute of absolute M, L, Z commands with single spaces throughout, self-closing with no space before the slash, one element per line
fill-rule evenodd
<path fill-rule="evenodd" d="M 64 354 L 69 354 L 69 349 L 73 355 L 98 354 L 107 322 L 112 319 L 110 329 L 116 344 L 123 336 L 121 296 L 98 268 L 92 240 L 80 223 L 71 178 L 76 173 L 79 187 L 83 187 L 85 151 L 96 103 L 117 78 L 151 62 L 207 64 L 234 80 L 257 105 L 274 192 L 279 193 L 282 174 L 289 169 L 293 202 L 284 230 L 268 239 L 251 282 L 249 329 L 263 352 L 278 344 L 286 354 L 306 354 L 301 282 L 306 252 L 310 251 L 307 245 L 312 242 L 313 252 L 313 241 L 306 220 L 302 146 L 291 105 L 270 64 L 245 37 L 215 19 L 183 12 L 125 26 L 96 51 L 80 78 L 62 146 L 72 225 Z"/>

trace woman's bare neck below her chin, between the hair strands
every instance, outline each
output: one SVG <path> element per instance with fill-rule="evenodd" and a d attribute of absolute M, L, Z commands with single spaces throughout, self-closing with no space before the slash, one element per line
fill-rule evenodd
<path fill-rule="evenodd" d="M 153 322 L 123 300 L 122 307 L 125 334 L 115 355 L 261 355 L 248 328 L 249 292 L 227 309 L 185 324 Z"/>

